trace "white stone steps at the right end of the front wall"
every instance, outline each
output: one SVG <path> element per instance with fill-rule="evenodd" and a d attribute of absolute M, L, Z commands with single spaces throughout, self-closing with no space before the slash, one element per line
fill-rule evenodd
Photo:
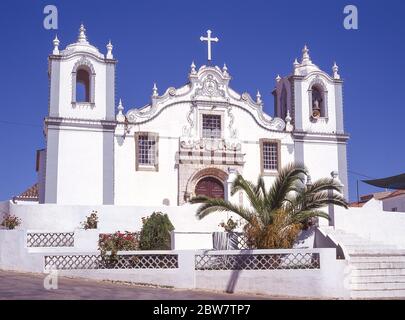
<path fill-rule="evenodd" d="M 405 250 L 342 230 L 324 230 L 350 257 L 353 299 L 405 299 Z"/>

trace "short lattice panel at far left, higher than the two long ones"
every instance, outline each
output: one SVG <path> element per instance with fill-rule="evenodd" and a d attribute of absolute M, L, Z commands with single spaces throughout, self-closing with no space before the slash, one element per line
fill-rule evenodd
<path fill-rule="evenodd" d="M 73 247 L 74 232 L 27 233 L 28 247 Z"/>

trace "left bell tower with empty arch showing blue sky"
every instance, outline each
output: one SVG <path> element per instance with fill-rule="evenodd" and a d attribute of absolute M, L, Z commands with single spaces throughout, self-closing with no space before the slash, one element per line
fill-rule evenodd
<path fill-rule="evenodd" d="M 106 55 L 87 40 L 49 56 L 49 115 L 45 119 L 46 166 L 43 202 L 113 204 L 115 66 L 111 42 Z"/>

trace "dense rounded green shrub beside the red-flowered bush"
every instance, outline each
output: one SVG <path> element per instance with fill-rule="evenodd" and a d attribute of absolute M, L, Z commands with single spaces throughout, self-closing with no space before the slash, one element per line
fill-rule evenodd
<path fill-rule="evenodd" d="M 140 233 L 141 250 L 170 250 L 170 232 L 174 230 L 167 214 L 154 212 L 148 218 L 142 218 L 143 227 Z"/>

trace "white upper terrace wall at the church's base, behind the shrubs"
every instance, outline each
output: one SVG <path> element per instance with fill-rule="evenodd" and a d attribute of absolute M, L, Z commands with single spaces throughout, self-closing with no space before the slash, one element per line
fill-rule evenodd
<path fill-rule="evenodd" d="M 178 232 L 214 232 L 223 231 L 219 224 L 233 216 L 228 213 L 213 213 L 199 220 L 195 216 L 198 204 L 183 206 L 75 206 L 55 204 L 10 204 L 10 213 L 21 218 L 21 229 L 73 231 L 81 226 L 86 216 L 93 210 L 99 217 L 100 232 L 139 231 L 142 217 L 150 216 L 154 211 L 167 213 Z M 234 216 L 235 219 L 240 219 Z"/>

